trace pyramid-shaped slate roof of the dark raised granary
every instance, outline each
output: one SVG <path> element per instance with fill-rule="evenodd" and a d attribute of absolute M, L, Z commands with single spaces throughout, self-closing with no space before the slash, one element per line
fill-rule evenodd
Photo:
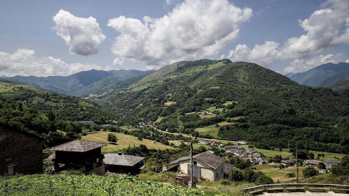
<path fill-rule="evenodd" d="M 101 148 L 102 146 L 106 146 L 106 144 L 78 139 L 78 140 L 74 140 L 71 142 L 67 142 L 67 143 L 55 146 L 49 150 L 66 151 L 66 152 L 86 152 L 96 148 Z"/>

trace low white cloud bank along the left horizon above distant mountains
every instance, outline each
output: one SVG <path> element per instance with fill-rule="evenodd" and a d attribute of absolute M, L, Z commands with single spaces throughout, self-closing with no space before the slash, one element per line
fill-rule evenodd
<path fill-rule="evenodd" d="M 6 76 L 70 75 L 79 71 L 101 69 L 95 64 L 66 63 L 52 56 L 38 57 L 34 50 L 18 49 L 13 54 L 0 51 L 0 70 Z"/>

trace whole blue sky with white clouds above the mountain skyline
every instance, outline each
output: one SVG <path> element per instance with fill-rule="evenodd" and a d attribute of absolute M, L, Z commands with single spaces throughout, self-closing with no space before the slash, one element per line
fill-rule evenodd
<path fill-rule="evenodd" d="M 287 74 L 349 62 L 348 0 L 11 0 L 0 18 L 0 76 L 223 58 Z"/>

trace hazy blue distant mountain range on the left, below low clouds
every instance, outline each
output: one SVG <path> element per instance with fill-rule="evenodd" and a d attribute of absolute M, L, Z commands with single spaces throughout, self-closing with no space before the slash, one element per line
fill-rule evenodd
<path fill-rule="evenodd" d="M 95 82 L 101 81 L 104 78 L 112 78 L 113 82 L 124 80 L 127 78 L 132 78 L 144 74 L 153 72 L 149 71 L 139 71 L 139 70 L 89 70 L 81 71 L 79 73 L 69 75 L 69 76 L 48 76 L 48 77 L 36 77 L 36 76 L 14 76 L 8 77 L 10 81 L 16 81 L 20 83 L 32 84 L 38 88 L 43 88 L 50 91 L 67 93 L 72 96 L 86 95 L 83 89 Z M 102 82 L 103 83 L 103 82 Z M 109 85 L 108 82 L 104 83 Z M 98 86 L 99 88 L 104 88 L 105 86 Z M 93 93 L 93 92 L 90 92 Z"/>

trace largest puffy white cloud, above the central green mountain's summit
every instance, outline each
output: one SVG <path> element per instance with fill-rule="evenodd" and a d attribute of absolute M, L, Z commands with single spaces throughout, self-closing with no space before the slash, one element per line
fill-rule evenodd
<path fill-rule="evenodd" d="M 161 18 L 119 16 L 107 25 L 120 32 L 112 46 L 119 58 L 159 65 L 216 55 L 252 16 L 227 0 L 186 0 Z"/>

